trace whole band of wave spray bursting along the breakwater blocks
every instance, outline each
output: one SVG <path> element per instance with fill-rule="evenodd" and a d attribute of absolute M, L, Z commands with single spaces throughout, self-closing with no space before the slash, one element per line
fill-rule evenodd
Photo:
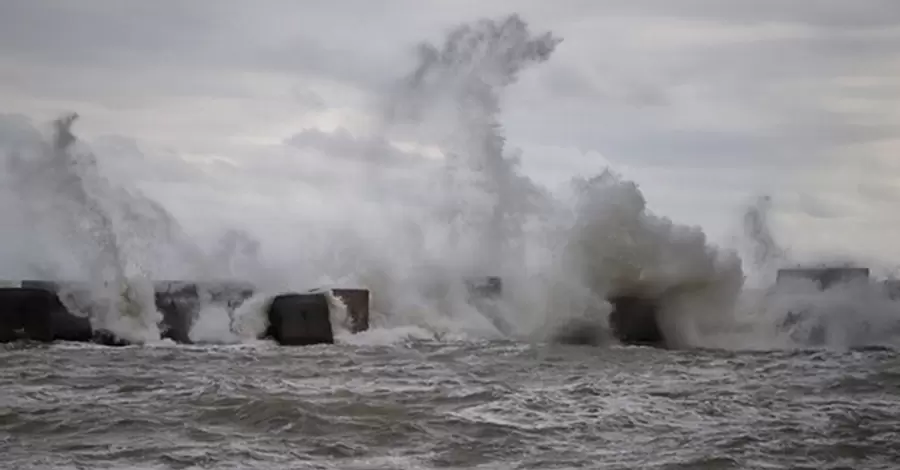
<path fill-rule="evenodd" d="M 275 259 L 264 259 L 271 240 L 251 235 L 259 227 L 249 223 L 230 227 L 205 251 L 209 240 L 189 235 L 136 188 L 103 176 L 102 159 L 85 143 L 76 149 L 73 118 L 57 121 L 49 139 L 6 119 L 0 215 L 17 229 L 3 229 L 10 241 L 2 256 L 18 271 L 3 274 L 91 281 L 94 310 L 102 304 L 107 312 L 92 321 L 132 341 L 159 339 L 151 279 L 225 277 L 270 295 L 321 285 L 370 289 L 371 330 L 358 335 L 349 334 L 346 308 L 330 296 L 338 338 L 347 342 L 545 341 L 577 329 L 593 343 L 613 343 L 608 299 L 630 295 L 655 301 L 659 327 L 677 348 L 891 344 L 900 316 L 883 289 L 745 285 L 748 272 L 771 273 L 789 261 L 771 230 L 768 200 L 746 213 L 752 253 L 745 264 L 699 228 L 653 214 L 637 185 L 610 169 L 576 178 L 566 195 L 528 178 L 507 148 L 501 97 L 560 43 L 512 15 L 421 45 L 413 71 L 386 97 L 381 134 L 372 139 L 425 143 L 441 158 L 409 162 L 415 190 L 407 192 L 382 191 L 393 184 L 388 170 L 362 163 L 368 190 L 378 195 L 360 195 L 368 215 L 307 226 L 296 250 Z M 502 296 L 473 299 L 472 280 L 489 276 L 503 280 Z M 267 327 L 270 295 L 234 310 L 205 305 L 191 339 L 252 341 Z"/>

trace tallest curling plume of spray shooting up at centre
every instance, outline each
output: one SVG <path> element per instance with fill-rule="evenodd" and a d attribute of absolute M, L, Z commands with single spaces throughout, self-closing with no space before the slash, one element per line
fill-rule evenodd
<path fill-rule="evenodd" d="M 416 137 L 434 140 L 445 156 L 435 215 L 450 226 L 447 248 L 467 256 L 473 275 L 521 259 L 514 245 L 543 195 L 504 148 L 500 94 L 560 42 L 533 34 L 518 15 L 461 25 L 443 44 L 419 46 L 418 64 L 391 103 L 392 124 L 415 122 Z"/>

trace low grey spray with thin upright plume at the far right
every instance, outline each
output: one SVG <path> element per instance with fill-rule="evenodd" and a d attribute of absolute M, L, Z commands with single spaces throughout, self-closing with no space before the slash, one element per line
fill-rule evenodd
<path fill-rule="evenodd" d="M 707 338 L 709 346 L 742 349 L 834 348 L 900 343 L 900 303 L 874 279 L 822 290 L 812 280 L 777 282 L 776 271 L 796 267 L 772 228 L 772 198 L 760 197 L 744 214 L 756 286 L 743 290 L 729 331 Z M 847 263 L 808 262 L 808 268 Z M 853 266 L 850 263 L 849 266 Z"/>

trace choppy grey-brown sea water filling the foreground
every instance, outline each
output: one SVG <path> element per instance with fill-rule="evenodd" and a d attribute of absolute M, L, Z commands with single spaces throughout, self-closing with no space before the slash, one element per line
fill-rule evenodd
<path fill-rule="evenodd" d="M 900 468 L 900 355 L 6 345 L 10 469 Z"/>

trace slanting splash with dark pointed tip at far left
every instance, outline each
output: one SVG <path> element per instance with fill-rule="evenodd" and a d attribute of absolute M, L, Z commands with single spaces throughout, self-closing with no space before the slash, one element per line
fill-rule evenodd
<path fill-rule="evenodd" d="M 152 282 L 144 266 L 129 256 L 127 235 L 114 216 L 115 193 L 96 158 L 75 148 L 72 125 L 77 117 L 71 114 L 55 120 L 52 140 L 42 142 L 34 158 L 17 155 L 10 161 L 10 171 L 19 176 L 14 181 L 31 225 L 36 231 L 55 228 L 52 233 L 80 264 L 76 268 L 80 272 L 66 272 L 52 264 L 44 270 L 60 277 L 75 274 L 87 281 L 95 328 L 134 343 L 158 341 L 162 315 L 155 306 Z M 77 311 L 84 306 L 68 307 Z"/>

